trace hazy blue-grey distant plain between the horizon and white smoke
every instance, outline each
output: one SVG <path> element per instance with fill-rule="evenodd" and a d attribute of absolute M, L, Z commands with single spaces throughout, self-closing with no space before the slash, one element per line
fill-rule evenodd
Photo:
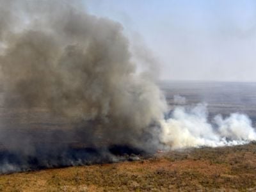
<path fill-rule="evenodd" d="M 244 113 L 256 124 L 256 83 L 164 81 L 159 85 L 172 108 L 206 103 L 210 120 L 218 114 Z M 186 98 L 186 103 L 175 102 L 174 95 Z"/>

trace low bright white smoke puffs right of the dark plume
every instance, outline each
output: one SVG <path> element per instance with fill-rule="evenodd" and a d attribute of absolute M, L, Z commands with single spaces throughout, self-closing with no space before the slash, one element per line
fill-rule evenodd
<path fill-rule="evenodd" d="M 175 108 L 170 118 L 161 121 L 161 141 L 177 149 L 241 145 L 256 140 L 255 129 L 246 115 L 233 113 L 227 118 L 217 115 L 212 124 L 207 118 L 205 104 Z"/>

